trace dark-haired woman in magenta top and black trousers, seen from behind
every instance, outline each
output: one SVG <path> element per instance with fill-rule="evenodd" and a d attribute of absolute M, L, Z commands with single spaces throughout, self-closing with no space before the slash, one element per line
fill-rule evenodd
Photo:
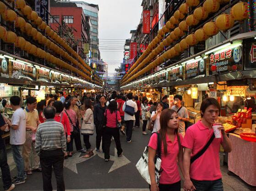
<path fill-rule="evenodd" d="M 118 157 L 122 156 L 123 153 L 120 143 L 119 129 L 117 128 L 117 123 L 121 123 L 121 116 L 117 110 L 117 102 L 115 100 L 109 103 L 104 115 L 107 118 L 106 127 L 103 130 L 104 158 L 105 161 L 108 162 L 110 158 L 109 148 L 112 136 L 114 137 Z"/>

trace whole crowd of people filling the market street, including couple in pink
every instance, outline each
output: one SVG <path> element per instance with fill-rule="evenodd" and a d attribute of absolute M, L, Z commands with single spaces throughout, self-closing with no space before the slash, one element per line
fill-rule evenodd
<path fill-rule="evenodd" d="M 167 96 L 163 96 L 162 101 L 157 103 L 148 101 L 147 97 L 139 99 L 132 93 L 124 95 L 116 92 L 93 95 L 83 93 L 81 98 L 79 95 L 64 97 L 64 93 L 59 92 L 59 96 L 49 94 L 46 100 L 38 103 L 36 98 L 28 97 L 27 107 L 24 109 L 20 107 L 19 97 L 12 96 L 10 102 L 15 112 L 11 120 L 0 115 L 0 129 L 10 129 L 10 145 L 17 175 L 11 178 L 4 141 L 0 138 L 0 164 L 6 191 L 13 190 L 16 184 L 25 183 L 27 176 L 32 175 L 33 171 L 42 171 L 44 190 L 52 190 L 52 168 L 57 190 L 64 191 L 63 164 L 74 153 L 73 142 L 76 151 L 84 153 L 82 157 L 89 158 L 94 155 L 90 136 L 96 131 L 95 149 L 97 152 L 102 151 L 104 161 L 108 162 L 111 140 L 114 138 L 117 155 L 121 157 L 123 150 L 120 132 L 126 136 L 126 142 L 131 143 L 133 129 L 140 127 L 140 119 L 143 121 L 143 135 L 147 135 L 148 122 L 153 121 L 153 135 L 148 144 L 151 191 L 178 191 L 178 165 L 185 177 L 185 191 L 192 191 L 200 186 L 208 186 L 214 190 L 215 183 L 221 185 L 217 161 L 219 145 L 223 145 L 228 152 L 231 150 L 230 141 L 221 124 L 222 139 L 214 140 L 208 153 L 193 164 L 190 163 L 191 154 L 194 155 L 202 148 L 207 137 L 212 134 L 214 119 L 218 117 L 219 104 L 212 98 L 203 100 L 202 121 L 192 125 L 186 133 L 185 122 L 189 116 L 186 108 L 182 106 L 180 95 L 174 96 L 174 102 L 170 106 Z M 210 130 L 204 131 L 205 129 Z M 162 141 L 163 171 L 159 185 L 154 178 L 154 160 L 158 149 L 158 136 L 155 133 L 160 134 Z M 86 149 L 82 147 L 81 135 Z M 31 158 L 30 153 L 33 154 Z M 208 167 L 203 162 L 205 160 L 211 161 Z M 203 181 L 209 182 L 204 184 Z"/>

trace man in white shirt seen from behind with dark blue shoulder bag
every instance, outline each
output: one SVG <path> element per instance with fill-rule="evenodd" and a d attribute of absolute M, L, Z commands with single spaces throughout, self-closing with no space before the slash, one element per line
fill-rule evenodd
<path fill-rule="evenodd" d="M 135 120 L 135 113 L 138 111 L 137 108 L 137 103 L 132 101 L 132 93 L 128 93 L 126 98 L 128 101 L 126 101 L 123 105 L 123 111 L 125 112 L 125 106 L 131 106 L 134 108 L 134 113 L 133 115 L 127 114 L 125 112 L 125 124 L 126 124 L 126 141 L 127 143 L 131 143 L 131 135 L 132 135 L 132 128 L 133 128 L 133 123 Z"/>

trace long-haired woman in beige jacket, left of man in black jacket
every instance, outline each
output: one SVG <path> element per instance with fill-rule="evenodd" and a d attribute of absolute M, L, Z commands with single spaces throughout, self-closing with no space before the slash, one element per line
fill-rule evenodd
<path fill-rule="evenodd" d="M 86 154 L 83 156 L 84 158 L 89 158 L 93 156 L 93 150 L 91 149 L 90 144 L 90 135 L 93 135 L 94 130 L 94 122 L 93 122 L 93 104 L 91 99 L 84 99 L 84 109 L 85 113 L 82 121 L 81 134 L 83 135 L 84 145 L 86 147 Z"/>

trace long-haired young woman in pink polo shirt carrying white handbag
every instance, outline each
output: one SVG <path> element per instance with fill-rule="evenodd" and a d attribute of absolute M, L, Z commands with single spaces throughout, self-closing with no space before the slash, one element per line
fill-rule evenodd
<path fill-rule="evenodd" d="M 155 179 L 155 156 L 157 153 L 158 135 L 153 134 L 148 143 L 148 171 L 151 181 L 150 191 L 180 191 L 179 167 L 183 169 L 183 137 L 178 133 L 179 117 L 172 109 L 164 109 L 160 115 L 159 138 L 161 139 L 161 172 L 159 185 Z M 178 158 L 178 163 L 177 163 Z M 179 167 L 178 167 L 179 165 Z"/>

